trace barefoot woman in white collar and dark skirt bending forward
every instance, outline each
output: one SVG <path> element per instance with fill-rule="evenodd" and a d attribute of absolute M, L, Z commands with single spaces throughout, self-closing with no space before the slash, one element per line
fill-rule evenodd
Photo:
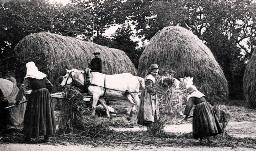
<path fill-rule="evenodd" d="M 212 106 L 205 100 L 206 96 L 196 89 L 195 85 L 188 88 L 189 96 L 188 103 L 185 107 L 185 119 L 188 119 L 190 110 L 193 104 L 196 105 L 193 112 L 193 137 L 199 139 L 197 142 L 201 143 L 202 138 L 206 137 L 210 145 L 212 140 L 210 136 L 223 133 L 219 120 L 212 110 Z"/>

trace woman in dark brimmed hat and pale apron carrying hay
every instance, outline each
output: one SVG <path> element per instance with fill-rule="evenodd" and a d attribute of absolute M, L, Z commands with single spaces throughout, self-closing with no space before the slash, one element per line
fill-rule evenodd
<path fill-rule="evenodd" d="M 158 75 L 157 64 L 150 66 L 150 72 L 145 78 L 145 88 L 140 96 L 140 106 L 138 111 L 138 124 L 149 127 L 158 119 L 158 97 L 154 89 L 156 76 Z"/>

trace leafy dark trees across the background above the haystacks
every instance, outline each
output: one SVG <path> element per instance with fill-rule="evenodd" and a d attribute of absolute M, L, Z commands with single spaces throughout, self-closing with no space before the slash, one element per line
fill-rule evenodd
<path fill-rule="evenodd" d="M 132 23 L 132 28 L 127 23 Z M 119 27 L 117 31 L 111 38 L 104 36 L 113 25 Z M 137 66 L 144 47 L 138 48 L 138 41 L 131 40 L 134 30 L 139 38 L 150 40 L 164 27 L 176 25 L 191 30 L 211 49 L 229 88 L 236 88 L 229 91 L 237 96 L 246 61 L 256 46 L 256 4 L 252 0 L 71 0 L 66 5 L 47 0 L 0 2 L 0 69 L 13 72 L 15 45 L 25 36 L 43 31 L 93 38 L 97 44 L 123 50 Z"/>

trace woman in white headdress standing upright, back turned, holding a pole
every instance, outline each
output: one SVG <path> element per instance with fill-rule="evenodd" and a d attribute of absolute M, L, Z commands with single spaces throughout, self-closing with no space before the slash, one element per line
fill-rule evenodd
<path fill-rule="evenodd" d="M 16 96 L 18 106 L 26 87 L 31 86 L 32 92 L 28 97 L 28 103 L 24 116 L 24 141 L 44 135 L 44 141 L 49 141 L 49 135 L 56 133 L 56 125 L 53 112 L 53 103 L 50 92 L 52 83 L 43 72 L 38 71 L 34 62 L 26 64 L 27 74 Z"/>

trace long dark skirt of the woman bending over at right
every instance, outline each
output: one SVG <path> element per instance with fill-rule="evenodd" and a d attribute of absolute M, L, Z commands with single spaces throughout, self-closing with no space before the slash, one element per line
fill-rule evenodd
<path fill-rule="evenodd" d="M 208 102 L 197 104 L 193 113 L 194 139 L 214 136 L 220 133 L 223 133 L 223 131 L 211 104 Z"/>

